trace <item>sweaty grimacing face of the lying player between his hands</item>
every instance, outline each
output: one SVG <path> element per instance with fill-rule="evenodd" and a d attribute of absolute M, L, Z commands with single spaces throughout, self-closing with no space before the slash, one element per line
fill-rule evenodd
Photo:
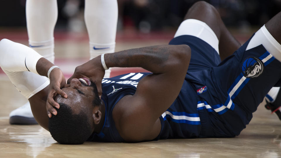
<path fill-rule="evenodd" d="M 98 94 L 95 94 L 93 83 L 88 78 L 73 78 L 61 90 L 68 97 L 63 98 L 61 95 L 57 95 L 54 99 L 57 103 L 69 105 L 76 114 L 79 114 L 80 110 L 83 110 L 86 114 L 91 114 L 93 107 L 92 101 Z"/>

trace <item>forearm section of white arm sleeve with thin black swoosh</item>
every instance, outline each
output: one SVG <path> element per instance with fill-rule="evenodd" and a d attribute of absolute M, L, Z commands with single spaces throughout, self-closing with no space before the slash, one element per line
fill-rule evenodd
<path fill-rule="evenodd" d="M 42 58 L 33 49 L 7 39 L 0 41 L 1 68 L 6 73 L 30 71 L 37 73 L 36 63 Z"/>

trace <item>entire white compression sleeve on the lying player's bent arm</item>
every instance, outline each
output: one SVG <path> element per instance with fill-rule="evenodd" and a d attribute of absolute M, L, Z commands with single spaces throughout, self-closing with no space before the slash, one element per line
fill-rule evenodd
<path fill-rule="evenodd" d="M 0 41 L 0 56 L 2 70 L 27 99 L 49 85 L 49 79 L 36 71 L 37 61 L 42 56 L 33 49 L 3 39 Z"/>

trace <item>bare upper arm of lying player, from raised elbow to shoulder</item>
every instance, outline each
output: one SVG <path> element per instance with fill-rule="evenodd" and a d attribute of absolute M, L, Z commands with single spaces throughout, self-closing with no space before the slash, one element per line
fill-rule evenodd
<path fill-rule="evenodd" d="M 181 90 L 191 51 L 186 45 L 173 46 L 170 51 L 175 52 L 163 64 L 163 73 L 145 76 L 133 96 L 126 96 L 118 102 L 123 116 L 117 124 L 121 126 L 121 136 L 127 140 L 154 139 L 161 129 L 159 117 Z"/>

